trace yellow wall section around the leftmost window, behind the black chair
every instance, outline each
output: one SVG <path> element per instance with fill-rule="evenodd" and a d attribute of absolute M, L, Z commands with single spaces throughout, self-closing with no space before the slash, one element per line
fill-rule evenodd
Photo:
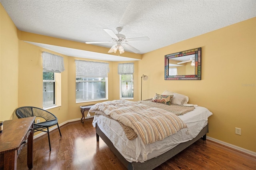
<path fill-rule="evenodd" d="M 47 51 L 41 47 L 19 41 L 19 69 L 18 69 L 18 107 L 35 106 L 42 108 L 42 51 Z M 65 71 L 61 73 L 61 106 L 50 109 L 58 117 L 59 123 L 67 121 L 68 114 L 68 57 L 64 58 Z"/>

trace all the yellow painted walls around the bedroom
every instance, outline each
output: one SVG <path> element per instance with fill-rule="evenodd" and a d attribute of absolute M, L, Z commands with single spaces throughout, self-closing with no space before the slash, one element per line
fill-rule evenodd
<path fill-rule="evenodd" d="M 41 51 L 48 50 L 21 40 L 99 52 L 104 48 L 17 31 L 2 5 L 0 9 L 0 120 L 4 121 L 12 119 L 17 107 L 42 107 Z M 202 80 L 164 80 L 164 55 L 196 47 L 202 47 Z M 50 111 L 63 123 L 80 118 L 79 106 L 93 102 L 76 103 L 74 60 L 80 58 L 61 56 L 65 64 L 61 73 L 62 106 Z M 108 63 L 109 100 L 119 99 L 120 62 Z M 140 99 L 141 75 L 148 75 L 149 79 L 143 81 L 142 99 L 166 89 L 187 95 L 189 103 L 206 107 L 214 114 L 209 119 L 208 136 L 256 152 L 256 18 L 151 51 L 134 63 L 134 101 Z M 242 129 L 241 136 L 234 134 L 235 127 Z"/>

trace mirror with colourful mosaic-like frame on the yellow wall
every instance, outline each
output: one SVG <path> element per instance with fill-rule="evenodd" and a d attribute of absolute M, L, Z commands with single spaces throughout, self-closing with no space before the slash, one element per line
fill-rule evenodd
<path fill-rule="evenodd" d="M 164 56 L 165 80 L 201 80 L 201 47 Z"/>

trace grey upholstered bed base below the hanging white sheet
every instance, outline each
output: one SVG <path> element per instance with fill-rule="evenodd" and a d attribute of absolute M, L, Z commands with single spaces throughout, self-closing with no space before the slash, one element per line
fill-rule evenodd
<path fill-rule="evenodd" d="M 119 158 L 119 160 L 128 168 L 128 170 L 152 170 L 159 166 L 160 164 L 166 162 L 168 159 L 172 158 L 194 142 L 196 142 L 198 139 L 203 138 L 203 140 L 206 140 L 206 133 L 208 132 L 208 125 L 204 127 L 200 133 L 192 140 L 189 140 L 184 143 L 180 143 L 171 150 L 161 154 L 160 156 L 157 156 L 156 158 L 152 158 L 150 160 L 147 160 L 143 163 L 141 162 L 128 162 L 114 147 L 112 142 L 108 139 L 108 137 L 100 130 L 100 128 L 96 125 L 96 138 L 97 141 L 99 141 L 99 136 L 102 138 L 102 140 L 108 145 L 108 147 L 114 152 L 114 154 Z"/>

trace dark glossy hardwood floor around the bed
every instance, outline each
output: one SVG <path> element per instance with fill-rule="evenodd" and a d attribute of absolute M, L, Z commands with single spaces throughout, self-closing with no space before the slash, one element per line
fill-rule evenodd
<path fill-rule="evenodd" d="M 52 151 L 44 135 L 34 140 L 32 170 L 122 170 L 123 164 L 100 139 L 96 142 L 92 119 L 68 123 L 50 132 Z M 27 170 L 26 147 L 17 170 Z M 256 170 L 256 157 L 210 140 L 198 140 L 154 170 Z"/>

